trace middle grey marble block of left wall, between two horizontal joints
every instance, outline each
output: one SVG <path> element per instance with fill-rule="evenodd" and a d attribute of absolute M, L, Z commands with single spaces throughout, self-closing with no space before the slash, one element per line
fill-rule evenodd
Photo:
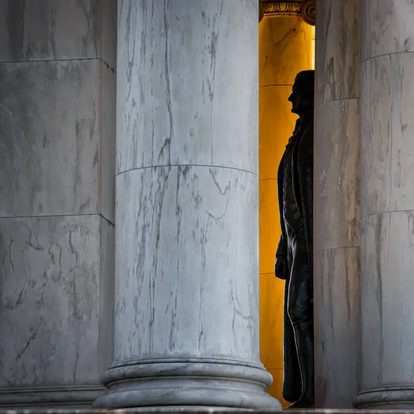
<path fill-rule="evenodd" d="M 98 60 L 0 64 L 1 216 L 99 211 L 100 91 Z"/>

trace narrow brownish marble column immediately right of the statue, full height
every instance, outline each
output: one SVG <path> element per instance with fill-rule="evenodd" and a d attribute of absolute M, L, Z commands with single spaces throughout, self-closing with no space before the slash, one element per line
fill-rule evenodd
<path fill-rule="evenodd" d="M 351 408 L 359 345 L 360 0 L 317 0 L 315 404 Z"/>

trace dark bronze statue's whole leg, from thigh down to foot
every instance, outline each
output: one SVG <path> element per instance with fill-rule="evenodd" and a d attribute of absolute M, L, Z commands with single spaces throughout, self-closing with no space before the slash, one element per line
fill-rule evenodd
<path fill-rule="evenodd" d="M 288 315 L 295 333 L 297 356 L 302 375 L 302 395 L 292 408 L 312 408 L 315 406 L 313 292 L 306 242 L 301 233 L 293 237 L 293 264 L 288 291 Z"/>

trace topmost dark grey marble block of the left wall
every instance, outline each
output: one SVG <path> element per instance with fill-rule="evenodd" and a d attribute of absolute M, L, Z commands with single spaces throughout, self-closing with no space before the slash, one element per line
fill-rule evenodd
<path fill-rule="evenodd" d="M 96 59 L 115 69 L 116 0 L 1 0 L 0 62 Z"/>

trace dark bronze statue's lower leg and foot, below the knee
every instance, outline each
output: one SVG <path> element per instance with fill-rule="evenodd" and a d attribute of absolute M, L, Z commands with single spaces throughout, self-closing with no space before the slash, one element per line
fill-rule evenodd
<path fill-rule="evenodd" d="M 313 323 L 295 324 L 295 342 L 302 376 L 302 395 L 289 408 L 315 407 L 315 377 L 313 363 Z"/>

